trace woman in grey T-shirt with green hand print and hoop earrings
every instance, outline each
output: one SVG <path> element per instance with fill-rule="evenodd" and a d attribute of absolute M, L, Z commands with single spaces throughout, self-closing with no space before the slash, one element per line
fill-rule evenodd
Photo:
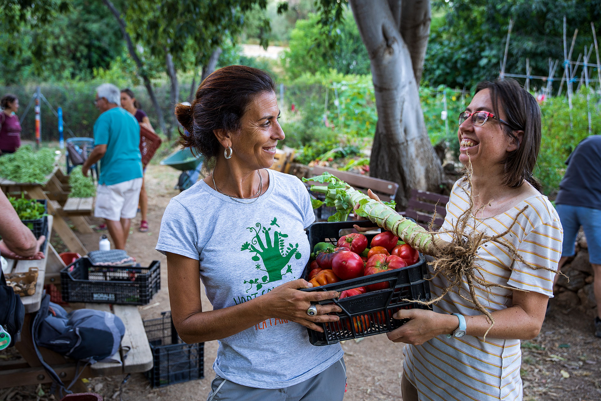
<path fill-rule="evenodd" d="M 191 106 L 178 104 L 181 142 L 211 174 L 172 198 L 156 249 L 167 256 L 169 301 L 186 343 L 219 340 L 208 400 L 342 400 L 340 344 L 311 345 L 307 329 L 339 320 L 340 294 L 303 292 L 305 228 L 315 220 L 295 176 L 268 170 L 278 141 L 273 79 L 229 66 L 209 75 Z M 203 281 L 212 310 L 201 302 Z"/>

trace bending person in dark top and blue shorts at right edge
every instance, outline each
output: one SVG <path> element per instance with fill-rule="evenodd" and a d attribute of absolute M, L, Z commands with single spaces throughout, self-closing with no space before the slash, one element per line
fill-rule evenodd
<path fill-rule="evenodd" d="M 593 268 L 593 293 L 597 303 L 594 335 L 601 337 L 601 135 L 582 139 L 566 164 L 566 175 L 555 199 L 565 230 L 560 269 L 574 256 L 576 235 L 582 227 L 587 238 L 588 261 Z"/>

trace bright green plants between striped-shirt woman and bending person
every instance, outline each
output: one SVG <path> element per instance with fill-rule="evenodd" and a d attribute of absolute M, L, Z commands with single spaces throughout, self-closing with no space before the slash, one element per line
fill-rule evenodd
<path fill-rule="evenodd" d="M 590 96 L 587 110 L 586 88 L 572 99 L 570 113 L 567 99 L 552 97 L 543 103 L 542 141 L 534 176 L 543 186 L 543 193 L 554 195 L 566 173 L 566 159 L 576 145 L 588 135 L 601 135 L 601 98 Z M 591 133 L 588 132 L 588 111 L 591 112 Z M 571 117 L 570 117 L 571 114 Z M 570 127 L 570 119 L 572 127 Z"/>

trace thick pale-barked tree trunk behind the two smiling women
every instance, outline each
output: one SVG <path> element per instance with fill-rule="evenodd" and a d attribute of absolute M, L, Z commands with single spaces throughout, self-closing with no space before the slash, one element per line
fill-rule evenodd
<path fill-rule="evenodd" d="M 426 52 L 423 31 L 430 26 L 430 3 L 404 0 L 402 10 L 401 1 L 349 3 L 370 57 L 376 96 L 370 175 L 397 182 L 396 200 L 405 207 L 411 189 L 437 191 L 442 182 L 442 165 L 426 132 L 416 81 Z M 407 46 L 403 37 L 415 43 Z"/>

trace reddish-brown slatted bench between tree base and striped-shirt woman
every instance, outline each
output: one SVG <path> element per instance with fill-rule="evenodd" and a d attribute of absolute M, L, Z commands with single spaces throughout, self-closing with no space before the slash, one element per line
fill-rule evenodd
<path fill-rule="evenodd" d="M 419 225 L 427 228 L 436 212 L 433 228 L 438 229 L 445 221 L 447 215 L 445 206 L 448 201 L 449 197 L 447 195 L 412 189 L 407 209 L 400 214 L 414 219 Z"/>

